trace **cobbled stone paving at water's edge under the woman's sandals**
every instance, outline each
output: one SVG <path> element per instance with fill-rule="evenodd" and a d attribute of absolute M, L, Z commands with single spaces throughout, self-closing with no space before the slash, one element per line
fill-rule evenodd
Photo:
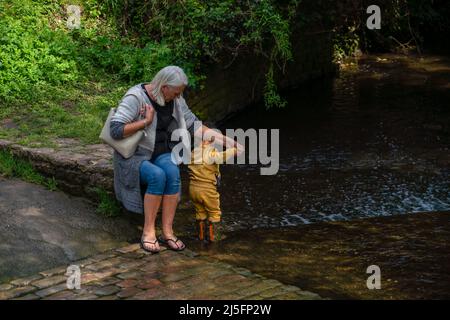
<path fill-rule="evenodd" d="M 62 266 L 0 284 L 0 299 L 320 299 L 312 292 L 187 249 L 174 252 L 162 247 L 152 255 L 132 244 L 73 264 L 81 270 L 80 289 L 67 288 L 68 266 Z"/>

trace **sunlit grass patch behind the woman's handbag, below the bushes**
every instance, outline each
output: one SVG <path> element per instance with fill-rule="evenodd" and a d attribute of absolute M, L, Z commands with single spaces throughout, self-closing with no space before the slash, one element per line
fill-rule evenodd
<path fill-rule="evenodd" d="M 108 112 L 127 89 L 127 84 L 115 81 L 33 88 L 32 99 L 1 104 L 0 139 L 44 147 L 54 147 L 57 138 L 100 143 L 98 136 Z M 13 125 L 2 125 L 6 121 Z"/>

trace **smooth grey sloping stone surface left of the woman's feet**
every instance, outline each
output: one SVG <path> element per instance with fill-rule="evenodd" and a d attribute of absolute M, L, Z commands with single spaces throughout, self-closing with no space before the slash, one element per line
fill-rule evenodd
<path fill-rule="evenodd" d="M 89 201 L 0 178 L 0 282 L 124 246 L 139 235 L 127 217 L 106 218 Z"/>

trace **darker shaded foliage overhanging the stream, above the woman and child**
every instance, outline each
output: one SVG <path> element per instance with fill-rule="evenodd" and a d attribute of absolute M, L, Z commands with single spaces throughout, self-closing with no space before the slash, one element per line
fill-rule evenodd
<path fill-rule="evenodd" d="M 193 85 L 201 80 L 205 63 L 231 64 L 241 53 L 265 56 L 268 65 L 284 69 L 292 59 L 291 22 L 300 1 L 287 1 L 278 7 L 276 1 L 223 0 L 108 0 L 122 33 L 132 35 L 138 42 L 164 43 L 173 54 L 175 64 L 182 65 L 194 77 Z M 287 5 L 286 5 L 287 4 Z M 281 8 L 288 8 L 281 10 Z M 287 11 L 287 12 L 285 12 Z M 273 83 L 273 67 L 266 79 L 267 106 L 278 103 Z M 279 97 L 278 97 L 279 98 Z"/>

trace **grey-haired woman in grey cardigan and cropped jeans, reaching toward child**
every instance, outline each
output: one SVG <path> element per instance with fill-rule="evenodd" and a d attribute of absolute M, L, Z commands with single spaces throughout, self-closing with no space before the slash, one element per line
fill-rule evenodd
<path fill-rule="evenodd" d="M 176 251 L 185 248 L 172 227 L 181 188 L 179 168 L 171 161 L 171 150 L 176 144 L 171 141 L 171 134 L 176 129 L 194 134 L 198 118 L 182 97 L 187 85 L 181 68 L 165 67 L 150 83 L 129 89 L 111 119 L 114 139 L 123 139 L 142 129 L 145 132 L 132 157 L 125 159 L 114 152 L 114 190 L 127 210 L 144 212 L 141 247 L 151 253 L 159 252 L 159 242 Z M 202 126 L 195 134 L 202 135 L 208 130 Z M 214 130 L 208 134 L 214 135 L 219 144 L 234 143 Z M 162 235 L 157 238 L 155 220 L 161 204 Z"/>

